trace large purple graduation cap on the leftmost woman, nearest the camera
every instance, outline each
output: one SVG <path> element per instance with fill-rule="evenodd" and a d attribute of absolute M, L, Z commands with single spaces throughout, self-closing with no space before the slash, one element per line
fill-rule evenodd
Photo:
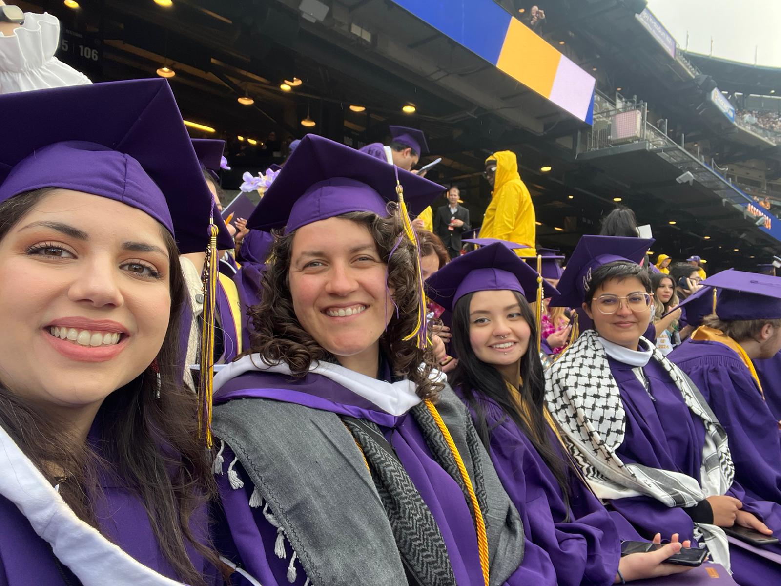
<path fill-rule="evenodd" d="M 0 202 L 62 188 L 123 202 L 155 218 L 179 251 L 203 252 L 219 219 L 177 102 L 163 79 L 0 95 Z M 222 221 L 218 247 L 232 248 Z"/>

